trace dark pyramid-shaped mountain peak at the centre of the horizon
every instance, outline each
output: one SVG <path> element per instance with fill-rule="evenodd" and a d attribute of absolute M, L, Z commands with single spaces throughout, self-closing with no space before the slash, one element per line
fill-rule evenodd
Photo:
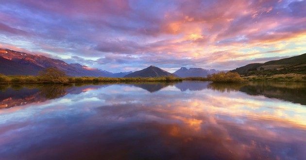
<path fill-rule="evenodd" d="M 129 78 L 129 77 L 166 77 L 166 76 L 178 77 L 174 74 L 171 74 L 153 65 L 149 66 L 148 68 L 142 69 L 140 71 L 130 73 L 124 77 Z"/>

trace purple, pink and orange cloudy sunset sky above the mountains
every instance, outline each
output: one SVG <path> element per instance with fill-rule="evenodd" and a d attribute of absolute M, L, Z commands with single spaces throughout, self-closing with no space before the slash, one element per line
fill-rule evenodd
<path fill-rule="evenodd" d="M 0 48 L 111 72 L 306 53 L 306 0 L 0 0 Z"/>

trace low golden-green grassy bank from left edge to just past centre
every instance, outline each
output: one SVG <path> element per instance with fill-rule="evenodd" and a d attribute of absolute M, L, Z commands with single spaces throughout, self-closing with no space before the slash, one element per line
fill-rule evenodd
<path fill-rule="evenodd" d="M 125 82 L 125 81 L 182 81 L 182 78 L 106 78 L 106 77 L 59 77 L 45 78 L 40 76 L 0 76 L 0 83 L 75 83 L 75 82 Z"/>

